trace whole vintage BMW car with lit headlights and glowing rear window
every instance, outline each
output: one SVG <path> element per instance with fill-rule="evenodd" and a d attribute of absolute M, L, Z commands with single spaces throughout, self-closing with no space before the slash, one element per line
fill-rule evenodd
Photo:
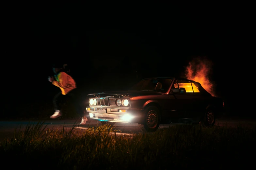
<path fill-rule="evenodd" d="M 86 107 L 99 124 L 138 123 L 154 132 L 171 122 L 213 126 L 224 111 L 224 101 L 212 96 L 199 82 L 174 77 L 145 78 L 127 91 L 88 94 Z"/>

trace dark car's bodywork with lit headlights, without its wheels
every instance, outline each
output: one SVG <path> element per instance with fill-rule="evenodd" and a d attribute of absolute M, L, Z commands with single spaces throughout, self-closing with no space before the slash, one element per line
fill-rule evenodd
<path fill-rule="evenodd" d="M 188 88 L 188 92 L 186 92 L 186 87 L 190 86 L 189 83 L 175 84 L 175 82 L 179 81 L 189 81 L 192 86 L 192 92 Z M 178 89 L 184 89 L 185 92 L 175 93 L 173 89 L 177 89 L 175 88 L 177 85 L 178 87 L 179 85 L 184 86 L 185 88 Z M 143 89 L 144 86 L 148 89 Z M 90 99 L 97 100 L 97 105 L 89 104 L 90 106 L 87 107 L 90 119 L 100 121 L 140 124 L 143 122 L 145 108 L 148 106 L 156 106 L 158 108 L 161 115 L 161 124 L 169 123 L 174 119 L 199 120 L 206 109 L 210 107 L 216 109 L 217 112 L 224 110 L 221 98 L 211 96 L 200 83 L 185 78 L 145 78 L 132 87 L 131 90 L 88 95 L 91 96 Z M 124 106 L 125 99 L 129 101 L 128 106 Z M 117 100 L 122 101 L 121 106 L 117 106 Z M 99 108 L 103 108 L 105 111 L 99 111 Z"/>

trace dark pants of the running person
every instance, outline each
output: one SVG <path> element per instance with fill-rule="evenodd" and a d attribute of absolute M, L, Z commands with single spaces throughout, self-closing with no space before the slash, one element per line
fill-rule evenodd
<path fill-rule="evenodd" d="M 76 90 L 72 90 L 66 95 L 63 95 L 61 92 L 58 92 L 53 98 L 54 109 L 61 110 L 60 104 L 66 101 L 70 101 L 75 106 L 76 112 L 81 117 L 85 116 L 83 107 L 81 106 L 81 101 L 79 101 L 79 97 L 76 94 Z"/>

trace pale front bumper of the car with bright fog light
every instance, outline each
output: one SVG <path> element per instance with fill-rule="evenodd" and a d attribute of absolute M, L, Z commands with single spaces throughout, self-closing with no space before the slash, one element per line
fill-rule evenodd
<path fill-rule="evenodd" d="M 105 113 L 100 109 L 105 109 Z M 98 110 L 98 111 L 97 111 Z M 120 107 L 88 106 L 86 111 L 91 120 L 109 121 L 117 123 L 140 123 L 143 109 Z"/>

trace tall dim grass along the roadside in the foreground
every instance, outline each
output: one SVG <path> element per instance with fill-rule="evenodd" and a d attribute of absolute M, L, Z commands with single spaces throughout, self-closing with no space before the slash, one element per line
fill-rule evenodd
<path fill-rule="evenodd" d="M 253 165 L 255 144 L 255 129 L 241 126 L 177 125 L 117 135 L 108 125 L 54 131 L 40 122 L 1 142 L 0 156 L 26 169 L 224 169 Z"/>

